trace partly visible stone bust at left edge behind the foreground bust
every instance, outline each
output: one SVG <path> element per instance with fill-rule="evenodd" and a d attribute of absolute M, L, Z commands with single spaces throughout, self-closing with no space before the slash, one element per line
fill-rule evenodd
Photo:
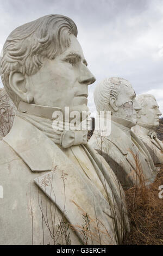
<path fill-rule="evenodd" d="M 9 133 L 15 116 L 15 106 L 5 92 L 0 88 L 0 137 Z"/>

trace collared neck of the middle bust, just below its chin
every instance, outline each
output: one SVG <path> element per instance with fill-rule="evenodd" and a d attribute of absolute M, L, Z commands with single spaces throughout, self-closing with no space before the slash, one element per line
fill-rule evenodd
<path fill-rule="evenodd" d="M 121 117 L 114 117 L 111 116 L 111 121 L 114 122 L 114 124 L 118 127 L 120 127 L 120 129 L 126 133 L 127 136 L 130 137 L 130 133 L 131 133 L 131 127 L 136 125 L 136 121 L 130 121 Z"/>

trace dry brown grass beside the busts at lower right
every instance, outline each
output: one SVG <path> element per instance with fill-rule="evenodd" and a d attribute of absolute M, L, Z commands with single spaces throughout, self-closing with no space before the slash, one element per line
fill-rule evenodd
<path fill-rule="evenodd" d="M 126 191 L 131 230 L 124 237 L 124 245 L 163 245 L 163 198 L 159 198 L 163 164 L 158 166 L 161 169 L 149 188 L 133 187 Z"/>

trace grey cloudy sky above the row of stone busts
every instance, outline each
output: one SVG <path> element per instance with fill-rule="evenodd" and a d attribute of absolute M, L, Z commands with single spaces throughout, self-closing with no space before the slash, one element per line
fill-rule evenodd
<path fill-rule="evenodd" d="M 96 82 L 129 80 L 136 94 L 155 95 L 163 112 L 163 0 L 0 0 L 0 51 L 16 27 L 47 14 L 71 17 Z M 0 83 L 2 85 L 2 83 Z"/>

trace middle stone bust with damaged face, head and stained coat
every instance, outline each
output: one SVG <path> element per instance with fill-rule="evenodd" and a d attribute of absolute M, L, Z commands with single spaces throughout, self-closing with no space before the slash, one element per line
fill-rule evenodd
<path fill-rule="evenodd" d="M 154 163 L 146 147 L 131 131 L 136 124 L 134 111 L 141 109 L 130 82 L 119 77 L 107 78 L 96 85 L 97 112 L 111 111 L 111 133 L 91 137 L 92 145 L 110 164 L 124 188 L 155 178 Z"/>

